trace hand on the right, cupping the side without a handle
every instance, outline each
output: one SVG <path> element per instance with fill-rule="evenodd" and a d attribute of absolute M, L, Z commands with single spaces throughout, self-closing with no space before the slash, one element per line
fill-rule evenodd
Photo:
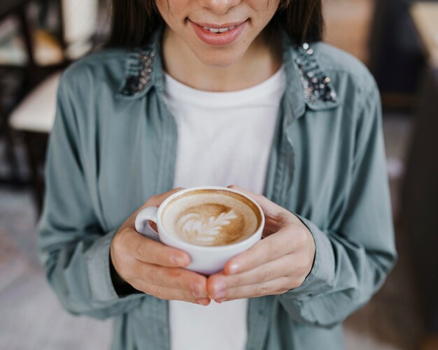
<path fill-rule="evenodd" d="M 224 269 L 207 282 L 209 297 L 216 302 L 281 294 L 300 286 L 313 266 L 315 242 L 295 214 L 264 196 L 248 194 L 262 207 L 263 240 L 231 258 Z"/>

